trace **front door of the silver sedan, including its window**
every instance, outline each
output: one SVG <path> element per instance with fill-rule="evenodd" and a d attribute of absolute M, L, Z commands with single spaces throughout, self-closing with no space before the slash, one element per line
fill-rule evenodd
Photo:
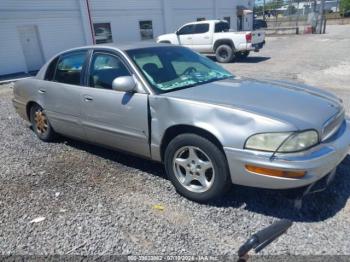
<path fill-rule="evenodd" d="M 81 96 L 82 126 L 88 140 L 116 149 L 150 156 L 148 145 L 148 95 L 112 90 L 120 76 L 131 76 L 122 59 L 95 52 L 88 85 Z"/>

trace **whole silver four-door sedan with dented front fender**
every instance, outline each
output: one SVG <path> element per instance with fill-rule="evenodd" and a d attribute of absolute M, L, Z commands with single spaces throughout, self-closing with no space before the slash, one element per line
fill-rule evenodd
<path fill-rule="evenodd" d="M 334 95 L 239 79 L 179 46 L 68 50 L 16 82 L 13 103 L 41 140 L 61 134 L 162 162 L 177 191 L 199 202 L 232 183 L 310 191 L 350 146 Z"/>

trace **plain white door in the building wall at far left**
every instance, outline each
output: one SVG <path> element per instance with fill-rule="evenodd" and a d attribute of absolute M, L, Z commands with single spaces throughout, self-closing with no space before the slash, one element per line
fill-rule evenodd
<path fill-rule="evenodd" d="M 19 26 L 17 30 L 27 64 L 27 71 L 38 70 L 44 64 L 44 58 L 37 27 L 35 25 Z"/>

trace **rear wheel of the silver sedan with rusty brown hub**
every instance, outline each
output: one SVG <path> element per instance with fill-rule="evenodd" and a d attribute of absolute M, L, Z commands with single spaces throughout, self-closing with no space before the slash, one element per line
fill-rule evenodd
<path fill-rule="evenodd" d="M 56 138 L 56 133 L 50 125 L 45 111 L 38 104 L 34 104 L 30 108 L 30 122 L 34 133 L 40 140 L 50 142 Z"/>

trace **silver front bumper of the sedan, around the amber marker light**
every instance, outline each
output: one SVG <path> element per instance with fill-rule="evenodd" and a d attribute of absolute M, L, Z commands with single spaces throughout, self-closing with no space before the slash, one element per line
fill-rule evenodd
<path fill-rule="evenodd" d="M 344 121 L 338 132 L 327 141 L 301 153 L 276 154 L 225 147 L 232 183 L 238 185 L 288 189 L 310 185 L 334 170 L 350 149 L 350 121 Z M 306 171 L 303 178 L 272 177 L 252 173 L 245 165 L 286 171 Z"/>

